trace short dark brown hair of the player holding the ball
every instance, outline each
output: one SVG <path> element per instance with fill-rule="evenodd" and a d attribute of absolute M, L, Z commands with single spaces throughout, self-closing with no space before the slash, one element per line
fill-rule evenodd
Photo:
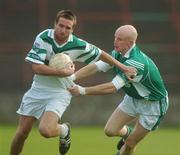
<path fill-rule="evenodd" d="M 57 15 L 56 15 L 55 24 L 58 23 L 60 17 L 72 20 L 74 22 L 74 26 L 76 25 L 76 15 L 71 10 L 61 10 L 61 11 L 59 11 L 57 13 Z"/>

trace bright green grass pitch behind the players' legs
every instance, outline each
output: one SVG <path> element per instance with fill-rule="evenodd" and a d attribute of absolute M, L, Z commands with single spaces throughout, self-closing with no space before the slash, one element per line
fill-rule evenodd
<path fill-rule="evenodd" d="M 0 127 L 0 155 L 9 155 L 16 127 Z M 34 128 L 21 155 L 59 155 L 58 138 L 45 139 Z M 67 155 L 114 155 L 118 138 L 106 137 L 102 127 L 72 127 L 72 146 Z M 134 155 L 180 155 L 180 129 L 160 128 L 137 146 Z"/>

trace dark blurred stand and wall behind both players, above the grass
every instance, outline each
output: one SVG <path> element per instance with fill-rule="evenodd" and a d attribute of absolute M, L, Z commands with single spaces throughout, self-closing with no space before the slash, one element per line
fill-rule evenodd
<path fill-rule="evenodd" d="M 24 61 L 36 35 L 53 28 L 57 11 L 77 15 L 74 34 L 110 53 L 114 31 L 134 25 L 137 44 L 157 64 L 169 91 L 170 108 L 162 126 L 180 126 L 180 1 L 179 0 L 0 0 L 0 124 L 17 123 L 16 110 L 30 88 L 33 72 Z M 77 68 L 83 66 L 77 64 Z M 80 82 L 92 85 L 111 80 L 112 73 Z M 123 92 L 73 98 L 63 115 L 75 125 L 105 125 Z"/>

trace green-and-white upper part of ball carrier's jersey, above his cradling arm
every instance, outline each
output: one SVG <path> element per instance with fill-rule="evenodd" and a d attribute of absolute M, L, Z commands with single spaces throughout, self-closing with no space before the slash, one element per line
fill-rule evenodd
<path fill-rule="evenodd" d="M 48 64 L 52 55 L 57 53 L 66 53 L 72 61 L 89 64 L 99 59 L 101 49 L 73 34 L 65 44 L 60 46 L 54 40 L 54 30 L 47 29 L 36 36 L 33 47 L 25 59 L 34 63 Z"/>

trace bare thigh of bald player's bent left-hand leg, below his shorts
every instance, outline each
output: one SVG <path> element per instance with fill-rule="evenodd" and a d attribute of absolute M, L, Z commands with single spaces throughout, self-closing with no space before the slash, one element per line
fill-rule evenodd
<path fill-rule="evenodd" d="M 105 128 L 114 133 L 118 133 L 124 125 L 132 121 L 134 117 L 129 116 L 123 112 L 119 107 L 112 113 L 109 120 L 106 123 Z"/>

